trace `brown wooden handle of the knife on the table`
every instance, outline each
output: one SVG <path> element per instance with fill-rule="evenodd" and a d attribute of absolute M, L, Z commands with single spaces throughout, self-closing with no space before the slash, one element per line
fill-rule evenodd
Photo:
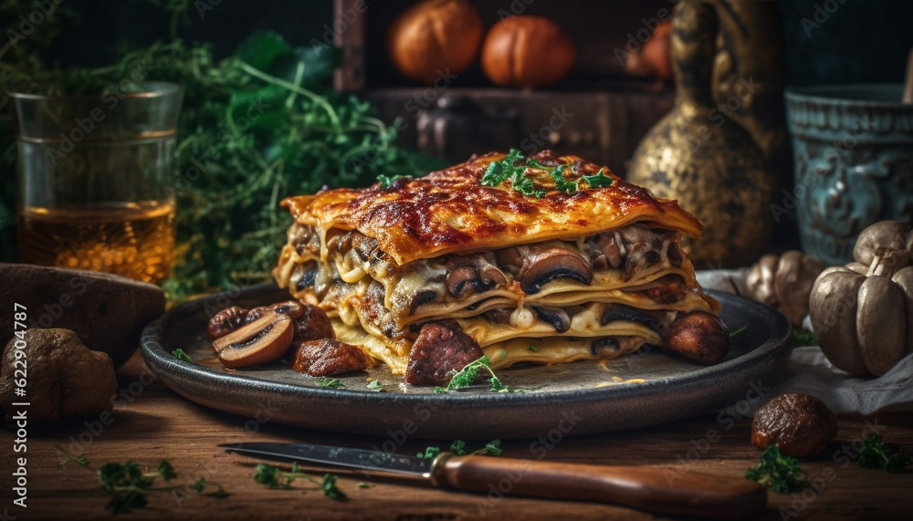
<path fill-rule="evenodd" d="M 654 467 L 441 453 L 431 481 L 458 490 L 595 501 L 683 516 L 754 516 L 767 505 L 764 488 L 747 479 Z"/>

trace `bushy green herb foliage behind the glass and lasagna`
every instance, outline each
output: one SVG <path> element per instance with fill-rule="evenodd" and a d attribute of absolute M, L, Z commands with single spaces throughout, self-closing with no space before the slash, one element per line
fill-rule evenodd
<path fill-rule="evenodd" d="M 20 8 L 7 0 L 0 7 L 17 25 L 37 4 L 23 2 Z M 130 78 L 137 62 L 148 66 L 146 80 L 184 85 L 169 177 L 177 200 L 175 264 L 163 284 L 170 298 L 269 280 L 291 223 L 288 211 L 278 206 L 284 197 L 444 166 L 396 146 L 402 121 L 384 124 L 369 103 L 332 89 L 341 49 L 291 47 L 277 34 L 257 32 L 233 55 L 217 60 L 211 45 L 176 37 L 193 2 L 159 4 L 172 12 L 171 39 L 149 47 L 119 46 L 114 63 L 103 68 L 48 68 L 35 45 L 53 34 L 46 22 L 16 49 L 0 48 L 0 89 L 100 93 Z M 64 7 L 69 9 L 61 5 L 58 14 Z M 0 123 L 9 121 L 5 103 L 0 99 L 5 118 Z M 0 167 L 10 173 L 0 176 L 2 185 L 15 177 L 11 125 L 0 124 L 0 146 Z M 7 231 L 13 225 L 13 214 L 5 209 L 11 193 L 0 197 L 5 219 L 0 227 Z"/>

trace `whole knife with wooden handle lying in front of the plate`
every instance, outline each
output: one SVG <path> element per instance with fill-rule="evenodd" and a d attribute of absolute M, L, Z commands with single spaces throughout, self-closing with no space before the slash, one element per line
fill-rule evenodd
<path fill-rule="evenodd" d="M 567 464 L 491 456 L 440 453 L 415 456 L 308 443 L 223 444 L 226 452 L 408 474 L 435 486 L 467 492 L 593 501 L 678 516 L 756 516 L 767 492 L 744 478 L 658 467 Z"/>

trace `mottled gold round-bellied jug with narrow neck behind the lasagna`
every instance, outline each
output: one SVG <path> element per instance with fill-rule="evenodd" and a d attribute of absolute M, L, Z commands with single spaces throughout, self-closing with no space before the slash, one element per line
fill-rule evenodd
<path fill-rule="evenodd" d="M 683 246 L 698 269 L 743 266 L 768 244 L 774 182 L 748 132 L 715 107 L 718 20 L 712 5 L 683 1 L 672 18 L 676 104 L 640 142 L 627 180 L 677 199 L 704 224 Z"/>

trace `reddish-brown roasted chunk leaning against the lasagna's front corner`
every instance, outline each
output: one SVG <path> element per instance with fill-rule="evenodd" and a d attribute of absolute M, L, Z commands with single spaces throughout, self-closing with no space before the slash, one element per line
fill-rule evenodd
<path fill-rule="evenodd" d="M 409 353 L 405 380 L 414 385 L 446 385 L 456 371 L 484 354 L 456 324 L 425 324 Z"/>

